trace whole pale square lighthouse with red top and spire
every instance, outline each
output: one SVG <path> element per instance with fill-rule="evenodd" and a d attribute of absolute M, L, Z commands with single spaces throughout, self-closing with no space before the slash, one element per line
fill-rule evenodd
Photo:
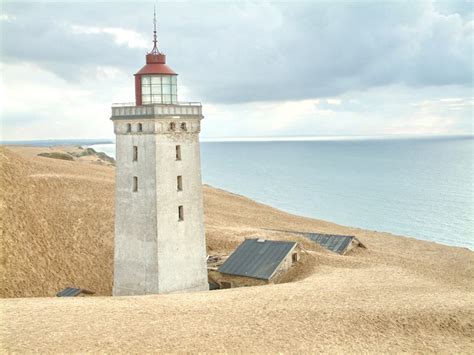
<path fill-rule="evenodd" d="M 199 149 L 202 106 L 178 101 L 178 75 L 153 49 L 135 102 L 113 104 L 116 135 L 113 295 L 208 289 Z"/>

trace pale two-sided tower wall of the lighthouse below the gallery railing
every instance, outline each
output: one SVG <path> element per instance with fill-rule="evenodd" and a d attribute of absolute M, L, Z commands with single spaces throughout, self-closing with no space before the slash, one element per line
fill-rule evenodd
<path fill-rule="evenodd" d="M 200 116 L 116 120 L 114 295 L 208 289 Z M 176 123 L 175 130 L 169 124 Z M 186 130 L 180 124 L 186 123 Z M 143 131 L 138 132 L 138 123 Z M 132 132 L 127 132 L 127 124 Z M 133 161 L 133 146 L 138 160 Z M 181 161 L 176 160 L 181 146 Z M 177 176 L 183 191 L 177 191 Z M 133 177 L 138 191 L 133 192 Z M 184 220 L 178 220 L 178 206 Z"/>

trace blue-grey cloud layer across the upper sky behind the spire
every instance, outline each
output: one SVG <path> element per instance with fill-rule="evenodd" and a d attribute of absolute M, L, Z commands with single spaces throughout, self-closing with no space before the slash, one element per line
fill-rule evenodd
<path fill-rule="evenodd" d="M 472 5 L 472 4 L 471 4 Z M 123 27 L 151 40 L 152 3 L 3 5 L 2 60 L 34 62 L 68 81 L 143 49 L 72 25 Z M 472 85 L 472 10 L 444 2 L 158 4 L 159 39 L 181 83 L 205 101 L 335 96 L 390 84 Z M 469 22 L 471 21 L 471 22 Z"/>

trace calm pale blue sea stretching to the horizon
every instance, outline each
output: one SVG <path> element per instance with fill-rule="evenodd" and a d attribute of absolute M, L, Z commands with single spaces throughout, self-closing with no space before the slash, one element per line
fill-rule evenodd
<path fill-rule="evenodd" d="M 94 145 L 114 156 L 114 145 Z M 203 182 L 284 211 L 474 250 L 473 137 L 204 142 Z"/>

